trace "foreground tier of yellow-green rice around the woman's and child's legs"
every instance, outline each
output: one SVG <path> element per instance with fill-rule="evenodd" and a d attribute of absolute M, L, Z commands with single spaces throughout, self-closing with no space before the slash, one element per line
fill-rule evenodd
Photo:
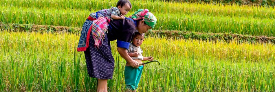
<path fill-rule="evenodd" d="M 94 91 L 79 35 L 0 32 L 0 91 Z M 152 43 L 153 42 L 153 43 Z M 138 91 L 274 91 L 275 45 L 146 37 Z M 124 65 L 111 42 L 115 69 L 109 91 L 124 92 Z"/>

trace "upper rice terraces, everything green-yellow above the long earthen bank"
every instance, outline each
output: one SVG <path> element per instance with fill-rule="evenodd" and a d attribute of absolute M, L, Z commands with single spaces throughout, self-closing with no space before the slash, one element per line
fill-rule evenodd
<path fill-rule="evenodd" d="M 109 8 L 116 2 L 4 0 L 2 3 L 2 23 L 81 27 L 91 12 Z M 274 7 L 139 0 L 132 3 L 133 9 L 129 14 L 139 8 L 147 8 L 157 16 L 158 23 L 153 30 L 275 35 Z"/>

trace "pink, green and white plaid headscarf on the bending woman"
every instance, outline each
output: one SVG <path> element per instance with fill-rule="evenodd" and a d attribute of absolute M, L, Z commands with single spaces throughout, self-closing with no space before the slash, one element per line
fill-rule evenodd
<path fill-rule="evenodd" d="M 138 9 L 138 11 L 132 14 L 131 18 L 134 20 L 143 19 L 144 22 L 152 28 L 154 28 L 157 23 L 157 18 L 149 12 L 148 9 Z"/>

